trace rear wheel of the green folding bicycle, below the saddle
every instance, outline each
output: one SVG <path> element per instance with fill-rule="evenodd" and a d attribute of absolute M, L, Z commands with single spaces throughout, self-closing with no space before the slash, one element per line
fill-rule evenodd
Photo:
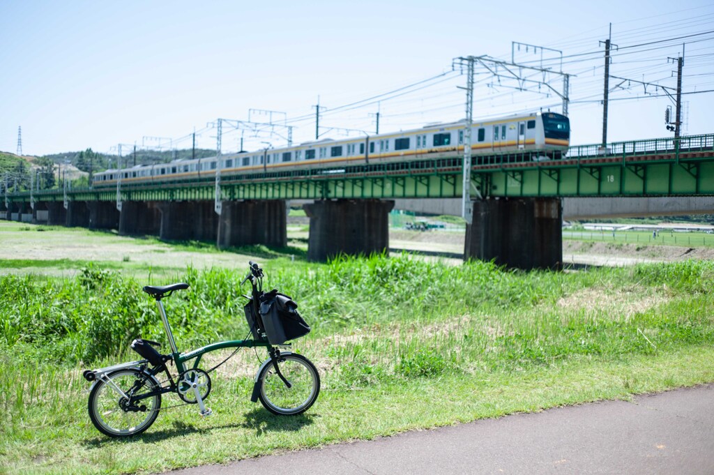
<path fill-rule="evenodd" d="M 138 369 L 120 369 L 96 381 L 87 406 L 89 419 L 102 434 L 141 434 L 159 416 L 159 382 Z"/>

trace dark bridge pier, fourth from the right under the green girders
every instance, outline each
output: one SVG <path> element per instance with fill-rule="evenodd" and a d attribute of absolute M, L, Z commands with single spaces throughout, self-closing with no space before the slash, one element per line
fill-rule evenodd
<path fill-rule="evenodd" d="M 218 236 L 218 214 L 213 201 L 161 201 L 161 239 L 215 241 Z"/>

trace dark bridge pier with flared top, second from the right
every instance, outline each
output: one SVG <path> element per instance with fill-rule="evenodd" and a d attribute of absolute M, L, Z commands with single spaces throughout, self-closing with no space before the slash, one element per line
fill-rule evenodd
<path fill-rule="evenodd" d="M 338 254 L 369 255 L 389 249 L 389 211 L 394 201 L 320 200 L 303 204 L 310 217 L 308 260 Z"/>

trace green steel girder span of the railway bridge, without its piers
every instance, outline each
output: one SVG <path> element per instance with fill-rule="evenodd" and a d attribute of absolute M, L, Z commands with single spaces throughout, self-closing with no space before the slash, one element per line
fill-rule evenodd
<path fill-rule="evenodd" d="M 714 195 L 714 134 L 573 146 L 562 159 L 537 154 L 475 156 L 481 197 Z M 269 174 L 223 175 L 221 199 L 459 198 L 462 159 L 429 159 Z M 120 201 L 216 198 L 215 179 L 121 184 Z M 472 196 L 473 196 L 472 192 Z M 8 193 L 9 203 L 117 201 L 116 187 Z"/>

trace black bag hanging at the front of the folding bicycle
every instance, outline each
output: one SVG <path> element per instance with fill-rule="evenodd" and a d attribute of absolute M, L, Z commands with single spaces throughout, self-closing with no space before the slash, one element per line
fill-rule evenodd
<path fill-rule="evenodd" d="M 261 320 L 271 345 L 281 345 L 310 333 L 310 326 L 297 308 L 298 304 L 277 290 L 261 296 Z"/>

